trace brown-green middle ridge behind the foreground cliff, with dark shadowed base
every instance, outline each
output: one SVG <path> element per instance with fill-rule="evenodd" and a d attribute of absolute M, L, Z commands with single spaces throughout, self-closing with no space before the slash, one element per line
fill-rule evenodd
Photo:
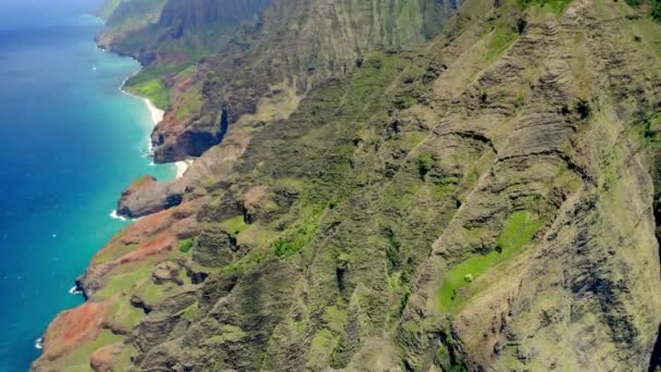
<path fill-rule="evenodd" d="M 154 159 L 199 157 L 222 139 L 223 108 L 232 125 L 263 101 L 296 107 L 310 88 L 345 76 L 375 47 L 423 44 L 451 12 L 442 0 L 275 1 L 260 22 L 237 30 L 225 52 L 183 78 L 185 87 L 177 85 L 172 110 L 152 135 Z"/>

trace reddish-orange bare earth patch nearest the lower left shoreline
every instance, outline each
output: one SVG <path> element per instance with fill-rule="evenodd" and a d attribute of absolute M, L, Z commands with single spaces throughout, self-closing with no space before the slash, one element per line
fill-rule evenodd
<path fill-rule="evenodd" d="M 95 339 L 109 311 L 107 302 L 87 302 L 60 313 L 46 332 L 41 359 L 55 360 L 80 344 Z"/>

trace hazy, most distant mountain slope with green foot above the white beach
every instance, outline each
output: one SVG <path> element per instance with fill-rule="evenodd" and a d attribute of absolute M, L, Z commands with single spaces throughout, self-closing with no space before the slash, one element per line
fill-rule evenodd
<path fill-rule="evenodd" d="M 195 64 L 204 55 L 223 51 L 237 26 L 254 23 L 272 0 L 108 0 L 109 13 L 98 44 L 132 55 L 144 70 L 125 89 L 170 108 L 171 90 L 186 87 Z M 188 69 L 188 70 L 187 70 Z M 177 74 L 179 83 L 175 83 Z M 190 98 L 190 95 L 187 96 Z M 189 109 L 196 103 L 186 101 Z"/>

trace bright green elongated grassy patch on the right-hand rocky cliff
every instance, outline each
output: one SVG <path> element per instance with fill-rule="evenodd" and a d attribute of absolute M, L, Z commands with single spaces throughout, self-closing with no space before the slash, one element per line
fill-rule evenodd
<path fill-rule="evenodd" d="M 461 289 L 492 266 L 511 258 L 519 249 L 533 240 L 542 222 L 528 211 L 516 211 L 510 215 L 492 251 L 476 255 L 457 266 L 446 275 L 439 290 L 440 309 L 459 311 L 466 298 L 461 297 Z"/>

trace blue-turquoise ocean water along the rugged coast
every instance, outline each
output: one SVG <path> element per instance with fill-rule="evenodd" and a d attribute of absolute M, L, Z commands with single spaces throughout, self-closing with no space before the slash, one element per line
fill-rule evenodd
<path fill-rule="evenodd" d="M 93 44 L 100 0 L 0 0 L 0 371 L 27 371 L 68 289 L 126 222 L 120 193 L 170 165 L 144 157 L 152 123 L 123 95 L 139 69 Z"/>

